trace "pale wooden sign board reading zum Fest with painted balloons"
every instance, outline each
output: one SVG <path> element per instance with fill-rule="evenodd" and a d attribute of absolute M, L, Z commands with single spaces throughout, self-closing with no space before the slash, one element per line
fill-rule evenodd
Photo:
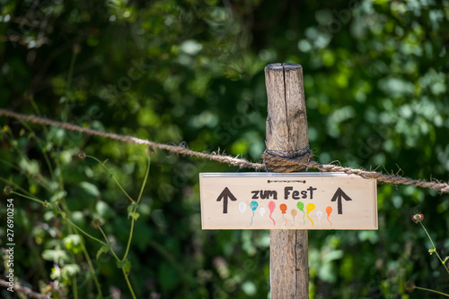
<path fill-rule="evenodd" d="M 376 180 L 341 173 L 199 174 L 203 229 L 377 229 Z"/>

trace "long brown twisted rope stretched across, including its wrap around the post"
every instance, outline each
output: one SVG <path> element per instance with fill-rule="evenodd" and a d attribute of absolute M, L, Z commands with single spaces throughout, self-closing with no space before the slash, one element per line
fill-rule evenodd
<path fill-rule="evenodd" d="M 154 149 L 165 149 L 168 151 L 172 151 L 181 155 L 188 155 L 192 157 L 198 158 L 208 158 L 210 160 L 214 160 L 220 163 L 225 163 L 228 165 L 241 167 L 241 168 L 253 168 L 256 170 L 265 169 L 265 165 L 271 167 L 276 167 L 277 170 L 288 170 L 290 169 L 304 169 L 305 167 L 319 169 L 321 171 L 330 171 L 330 172 L 342 172 L 348 175 L 359 175 L 366 179 L 376 179 L 379 182 L 388 183 L 388 184 L 409 184 L 417 187 L 434 189 L 441 193 L 449 193 L 449 184 L 441 183 L 441 182 L 426 182 L 421 180 L 410 179 L 409 177 L 403 177 L 401 175 L 386 175 L 379 172 L 371 172 L 365 171 L 363 169 L 354 169 L 351 167 L 340 167 L 332 164 L 321 164 L 315 161 L 310 161 L 309 158 L 290 158 L 290 157 L 282 157 L 282 155 L 277 154 L 273 151 L 266 151 L 263 154 L 264 164 L 261 163 L 253 163 L 244 158 L 234 158 L 231 156 L 220 155 L 216 153 L 208 154 L 203 152 L 198 152 L 195 150 L 187 149 L 183 146 L 175 146 L 163 143 L 157 143 L 154 141 L 145 141 L 142 139 L 138 139 L 133 136 L 128 135 L 119 135 L 111 132 L 101 132 L 97 130 L 92 130 L 89 128 L 83 128 L 75 124 L 66 124 L 60 123 L 57 121 L 50 120 L 48 118 L 39 117 L 35 115 L 21 115 L 15 113 L 13 111 L 9 111 L 6 109 L 0 108 L 0 116 L 8 116 L 16 119 L 20 119 L 23 121 L 28 121 L 34 124 L 46 124 L 46 125 L 54 125 L 66 130 L 77 131 L 77 132 L 85 132 L 90 135 L 106 137 L 110 139 L 114 139 L 117 141 L 130 142 L 136 144 L 146 145 L 148 147 Z M 300 155 L 301 156 L 301 155 Z"/>

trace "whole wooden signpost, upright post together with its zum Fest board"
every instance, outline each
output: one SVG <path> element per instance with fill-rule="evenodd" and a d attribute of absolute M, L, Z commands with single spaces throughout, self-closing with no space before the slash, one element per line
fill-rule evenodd
<path fill-rule="evenodd" d="M 269 64 L 265 81 L 267 149 L 272 156 L 301 158 L 297 153 L 309 145 L 302 67 Z M 308 298 L 307 230 L 377 229 L 376 183 L 355 175 L 291 173 L 305 170 L 294 163 L 265 164 L 269 173 L 200 174 L 202 226 L 270 229 L 271 298 Z"/>

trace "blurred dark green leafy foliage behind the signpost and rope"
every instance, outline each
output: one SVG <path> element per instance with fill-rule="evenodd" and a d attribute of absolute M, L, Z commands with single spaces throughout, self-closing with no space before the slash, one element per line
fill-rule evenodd
<path fill-rule="evenodd" d="M 0 4 L 1 107 L 260 160 L 263 68 L 302 64 L 317 161 L 449 180 L 447 0 Z M 100 164 L 76 155 L 107 159 L 113 177 L 137 198 L 145 148 L 4 117 L 0 124 L 2 189 L 20 186 L 41 201 L 64 203 L 66 218 L 102 240 L 90 226 L 100 218 L 122 256 L 129 201 Z M 200 228 L 198 173 L 241 169 L 161 150 L 150 156 L 128 254 L 136 296 L 269 297 L 269 231 Z M 23 286 L 55 298 L 96 298 L 94 269 L 103 297 L 131 297 L 110 252 L 97 256 L 100 243 L 60 213 L 9 197 L 14 273 Z M 4 247 L 8 197 L 1 198 Z M 407 294 L 409 279 L 449 292 L 445 269 L 410 220 L 422 211 L 440 255 L 449 255 L 448 196 L 379 184 L 378 204 L 378 231 L 309 232 L 311 298 L 438 297 Z"/>

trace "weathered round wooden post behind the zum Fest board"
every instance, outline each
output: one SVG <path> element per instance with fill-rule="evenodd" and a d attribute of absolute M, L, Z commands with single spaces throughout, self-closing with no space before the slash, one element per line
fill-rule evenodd
<path fill-rule="evenodd" d="M 309 133 L 303 68 L 298 64 L 269 64 L 265 67 L 265 82 L 267 149 L 304 149 L 309 144 Z M 307 230 L 272 230 L 270 237 L 271 298 L 309 298 Z"/>

